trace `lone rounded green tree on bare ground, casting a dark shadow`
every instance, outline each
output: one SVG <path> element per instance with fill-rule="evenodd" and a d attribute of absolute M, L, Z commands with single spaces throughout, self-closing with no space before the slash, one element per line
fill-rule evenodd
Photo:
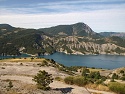
<path fill-rule="evenodd" d="M 53 82 L 51 74 L 48 74 L 45 70 L 39 71 L 34 77 L 33 81 L 37 82 L 37 87 L 42 90 L 49 90 L 49 84 Z"/>

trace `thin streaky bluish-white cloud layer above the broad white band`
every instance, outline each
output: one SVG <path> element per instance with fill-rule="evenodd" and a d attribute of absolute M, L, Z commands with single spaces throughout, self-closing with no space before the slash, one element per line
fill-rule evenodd
<path fill-rule="evenodd" d="M 124 0 L 71 0 L 34 3 L 22 7 L 0 6 L 1 14 L 68 13 L 108 9 L 125 9 Z M 4 10 L 4 11 L 3 11 Z"/>

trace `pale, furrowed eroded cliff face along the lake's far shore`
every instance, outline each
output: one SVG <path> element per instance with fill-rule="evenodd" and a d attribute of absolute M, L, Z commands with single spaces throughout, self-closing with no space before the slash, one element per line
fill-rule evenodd
<path fill-rule="evenodd" d="M 61 45 L 60 42 L 64 41 Z M 112 54 L 112 55 L 125 55 L 125 48 L 120 47 L 113 43 L 98 44 L 95 42 L 79 41 L 78 37 L 61 38 L 57 42 L 57 51 L 68 54 Z"/>

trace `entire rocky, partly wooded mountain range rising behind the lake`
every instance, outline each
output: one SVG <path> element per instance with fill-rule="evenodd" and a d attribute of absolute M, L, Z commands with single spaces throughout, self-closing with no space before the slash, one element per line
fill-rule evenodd
<path fill-rule="evenodd" d="M 103 37 L 84 23 L 25 29 L 0 24 L 0 55 L 117 54 L 125 55 L 125 39 Z"/>

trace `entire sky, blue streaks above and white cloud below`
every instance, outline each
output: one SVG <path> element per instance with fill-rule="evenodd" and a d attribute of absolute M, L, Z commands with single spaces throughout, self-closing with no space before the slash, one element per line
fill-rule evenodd
<path fill-rule="evenodd" d="M 95 32 L 125 32 L 125 0 L 0 0 L 0 24 L 38 29 L 78 22 Z"/>

